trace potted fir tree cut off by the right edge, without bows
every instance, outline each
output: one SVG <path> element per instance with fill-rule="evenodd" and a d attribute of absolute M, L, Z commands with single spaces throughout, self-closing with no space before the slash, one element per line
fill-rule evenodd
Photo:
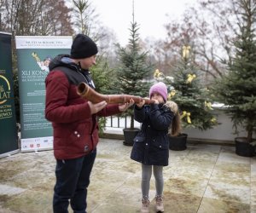
<path fill-rule="evenodd" d="M 241 9 L 241 19 L 238 23 L 239 32 L 236 35 L 235 55 L 227 63 L 228 73 L 218 79 L 214 86 L 219 102 L 225 104 L 225 111 L 237 127 L 247 131 L 246 137 L 236 137 L 236 154 L 244 157 L 255 155 L 256 139 L 256 37 L 255 17 L 256 3 L 253 1 L 238 1 Z"/>

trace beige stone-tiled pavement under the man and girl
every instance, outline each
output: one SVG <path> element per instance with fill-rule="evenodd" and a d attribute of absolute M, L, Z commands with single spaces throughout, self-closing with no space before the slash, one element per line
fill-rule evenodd
<path fill-rule="evenodd" d="M 90 180 L 88 212 L 140 212 L 141 165 L 121 140 L 101 139 Z M 164 168 L 167 213 L 256 213 L 256 157 L 235 147 L 189 144 L 170 150 Z M 55 184 L 52 151 L 17 153 L 0 159 L 0 212 L 48 213 Z M 150 187 L 154 212 L 154 178 Z M 72 212 L 72 210 L 70 210 Z"/>

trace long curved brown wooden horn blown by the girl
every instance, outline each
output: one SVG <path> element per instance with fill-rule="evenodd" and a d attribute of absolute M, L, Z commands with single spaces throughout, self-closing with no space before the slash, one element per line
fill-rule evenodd
<path fill-rule="evenodd" d="M 106 101 L 108 104 L 118 104 L 118 103 L 127 103 L 131 99 L 135 103 L 139 103 L 145 100 L 145 104 L 154 103 L 154 101 L 148 98 L 142 98 L 135 95 L 102 95 L 96 92 L 96 90 L 91 89 L 86 83 L 79 83 L 77 92 L 79 95 L 84 97 L 86 100 L 91 101 L 92 103 L 99 103 L 101 101 Z"/>

